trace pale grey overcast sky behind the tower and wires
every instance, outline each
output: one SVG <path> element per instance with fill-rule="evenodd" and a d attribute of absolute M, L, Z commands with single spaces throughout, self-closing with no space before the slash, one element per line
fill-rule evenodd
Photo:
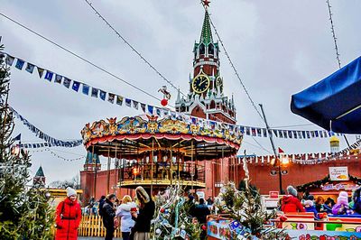
<path fill-rule="evenodd" d="M 146 60 L 171 80 L 184 93 L 189 89 L 192 72 L 192 49 L 199 41 L 204 10 L 198 0 L 169 1 L 95 1 L 89 0 L 118 32 L 141 52 Z M 333 21 L 338 38 L 341 65 L 356 59 L 361 51 L 361 2 L 335 1 Z M 153 69 L 112 32 L 88 6 L 86 1 L 3 0 L 1 14 L 23 23 L 33 31 L 76 52 L 120 78 L 162 97 L 158 89 L 166 85 Z M 317 130 L 316 125 L 290 110 L 291 96 L 338 69 L 330 30 L 329 12 L 324 0 L 214 0 L 209 14 L 255 104 L 262 103 L 269 125 L 273 127 Z M 127 86 L 116 78 L 90 66 L 50 42 L 28 32 L 0 15 L 0 35 L 5 51 L 51 69 L 71 79 L 88 83 L 124 97 L 159 106 L 159 101 Z M 213 38 L 217 37 L 213 31 Z M 264 123 L 245 96 L 235 72 L 220 55 L 220 71 L 227 96 L 235 96 L 239 125 L 264 127 Z M 171 90 L 171 103 L 177 92 Z M 118 119 L 138 115 L 140 111 L 110 105 L 95 97 L 86 97 L 67 88 L 39 79 L 25 70 L 11 70 L 10 105 L 42 132 L 58 139 L 80 139 L 87 123 L 106 117 Z M 283 128 L 283 127 L 282 127 Z M 15 119 L 14 135 L 22 134 L 22 142 L 41 142 Z M 348 136 L 355 142 L 355 136 Z M 241 152 L 264 155 L 272 152 L 269 139 L 245 136 Z M 287 153 L 327 152 L 328 139 L 282 140 L 276 146 Z M 346 147 L 341 139 L 341 148 Z M 51 148 L 57 155 L 75 159 L 86 155 L 83 146 Z M 51 152 L 31 152 L 33 175 L 42 165 L 47 183 L 69 180 L 83 167 L 84 158 L 64 161 Z M 106 160 L 102 159 L 103 167 Z"/>

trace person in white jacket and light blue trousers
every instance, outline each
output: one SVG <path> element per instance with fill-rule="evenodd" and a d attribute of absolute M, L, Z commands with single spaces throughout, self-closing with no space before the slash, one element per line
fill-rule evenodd
<path fill-rule="evenodd" d="M 122 204 L 116 208 L 116 217 L 120 217 L 120 228 L 123 240 L 129 240 L 130 233 L 135 223 L 130 212 L 135 209 L 136 205 L 129 195 L 125 195 L 122 199 Z"/>

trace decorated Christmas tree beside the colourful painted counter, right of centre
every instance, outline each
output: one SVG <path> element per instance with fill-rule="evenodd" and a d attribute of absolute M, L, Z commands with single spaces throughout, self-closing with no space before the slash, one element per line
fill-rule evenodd
<path fill-rule="evenodd" d="M 275 218 L 275 212 L 267 213 L 262 208 L 259 191 L 249 184 L 245 161 L 244 170 L 245 180 L 240 184 L 240 190 L 233 182 L 228 182 L 220 190 L 215 201 L 218 213 L 227 214 L 233 220 L 231 225 L 235 226 L 237 239 L 286 239 L 287 234 L 281 229 L 267 226 L 269 220 Z"/>

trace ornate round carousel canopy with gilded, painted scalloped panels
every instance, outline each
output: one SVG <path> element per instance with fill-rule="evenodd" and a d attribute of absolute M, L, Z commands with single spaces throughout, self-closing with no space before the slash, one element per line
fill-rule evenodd
<path fill-rule="evenodd" d="M 236 154 L 243 139 L 233 125 L 149 115 L 100 120 L 87 124 L 81 135 L 88 151 L 125 159 L 151 151 L 180 152 L 185 160 L 192 152 L 197 160 L 218 159 Z"/>

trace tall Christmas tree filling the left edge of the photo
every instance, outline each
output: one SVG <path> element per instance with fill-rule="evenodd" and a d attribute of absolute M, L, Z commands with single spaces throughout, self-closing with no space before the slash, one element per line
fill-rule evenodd
<path fill-rule="evenodd" d="M 14 119 L 8 106 L 8 58 L 0 52 L 0 239 L 52 239 L 54 215 L 45 191 L 26 186 L 30 156 L 11 136 Z"/>

